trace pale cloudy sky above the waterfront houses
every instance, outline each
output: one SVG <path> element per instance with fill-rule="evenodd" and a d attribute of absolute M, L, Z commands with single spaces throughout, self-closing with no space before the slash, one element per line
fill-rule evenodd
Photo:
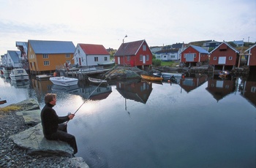
<path fill-rule="evenodd" d="M 103 45 L 145 39 L 256 42 L 255 0 L 0 0 L 0 55 L 29 39 Z M 127 37 L 125 37 L 127 35 Z M 125 37 L 125 38 L 124 38 Z"/>

